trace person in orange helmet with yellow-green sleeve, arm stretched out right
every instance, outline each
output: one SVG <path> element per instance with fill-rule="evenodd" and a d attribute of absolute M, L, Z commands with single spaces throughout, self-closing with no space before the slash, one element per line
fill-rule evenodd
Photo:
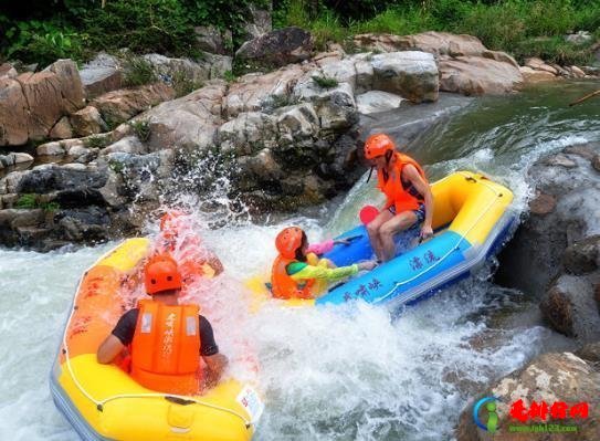
<path fill-rule="evenodd" d="M 372 261 L 350 266 L 334 267 L 327 259 L 308 253 L 308 239 L 298 227 L 282 230 L 275 239 L 278 255 L 273 262 L 271 290 L 275 298 L 314 298 L 322 294 L 328 282 L 338 281 L 372 270 Z"/>

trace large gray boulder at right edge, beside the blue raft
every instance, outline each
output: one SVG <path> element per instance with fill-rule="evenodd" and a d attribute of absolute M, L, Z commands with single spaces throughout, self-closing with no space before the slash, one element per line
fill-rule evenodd
<path fill-rule="evenodd" d="M 586 238 L 600 233 L 600 175 L 590 157 L 600 151 L 599 143 L 568 147 L 560 155 L 541 158 L 527 172 L 528 181 L 544 198 L 544 207 L 533 199 L 536 211 L 519 225 L 515 237 L 501 252 L 498 282 L 525 291 L 538 298 L 550 282 L 572 266 L 564 258 L 566 250 Z M 565 167 L 565 158 L 575 167 Z M 549 209 L 549 210 L 548 210 Z M 539 211 L 538 211 L 539 210 Z"/>

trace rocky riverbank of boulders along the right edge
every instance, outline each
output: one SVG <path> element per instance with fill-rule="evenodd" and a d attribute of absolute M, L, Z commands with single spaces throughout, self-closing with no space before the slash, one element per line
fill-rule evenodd
<path fill-rule="evenodd" d="M 463 411 L 456 427 L 459 441 L 491 439 L 473 422 L 473 406 L 484 397 L 496 398 L 501 429 L 494 439 L 534 437 L 510 432 L 509 427 L 546 423 L 575 427 L 577 434 L 538 433 L 535 439 L 600 438 L 599 159 L 600 144 L 590 143 L 569 146 L 530 167 L 535 196 L 529 213 L 501 253 L 496 274 L 497 282 L 537 298 L 549 327 L 583 346 L 575 354 L 544 354 L 490 385 Z M 515 405 L 518 400 L 522 410 Z M 560 410 L 561 402 L 567 409 L 575 406 L 575 413 Z M 485 423 L 485 410 L 480 414 Z"/>

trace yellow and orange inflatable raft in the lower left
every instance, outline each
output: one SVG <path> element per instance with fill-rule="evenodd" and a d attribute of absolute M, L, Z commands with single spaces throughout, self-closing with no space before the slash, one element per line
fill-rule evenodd
<path fill-rule="evenodd" d="M 147 239 L 129 239 L 83 275 L 50 376 L 56 407 L 84 440 L 250 440 L 263 410 L 251 386 L 225 380 L 202 396 L 169 396 L 96 361 L 127 309 L 122 287 L 138 283 L 149 249 Z"/>

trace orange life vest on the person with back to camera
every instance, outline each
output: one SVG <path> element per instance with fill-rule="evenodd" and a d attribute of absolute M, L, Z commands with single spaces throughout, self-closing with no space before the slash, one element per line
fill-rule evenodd
<path fill-rule="evenodd" d="M 131 342 L 131 377 L 166 393 L 200 389 L 200 329 L 197 305 L 168 306 L 143 300 Z"/>

